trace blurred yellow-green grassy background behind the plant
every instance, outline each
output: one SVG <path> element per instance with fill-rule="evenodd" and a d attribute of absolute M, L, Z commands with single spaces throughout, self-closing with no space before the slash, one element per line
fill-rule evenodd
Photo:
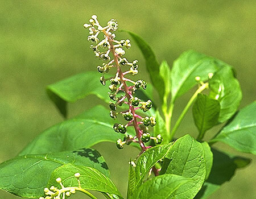
<path fill-rule="evenodd" d="M 256 99 L 256 1 L 0 1 L 0 161 L 15 157 L 36 135 L 63 121 L 47 98 L 45 88 L 53 82 L 85 71 L 95 71 L 94 58 L 82 25 L 92 14 L 102 24 L 118 20 L 119 28 L 141 35 L 158 60 L 170 65 L 188 49 L 233 65 L 240 81 L 241 107 Z M 129 38 L 118 33 L 119 39 Z M 133 44 L 133 43 L 132 43 Z M 140 75 L 149 81 L 139 49 L 127 51 L 140 61 Z M 145 77 L 146 76 L 146 77 Z M 138 76 L 135 77 L 139 78 Z M 174 118 L 187 102 L 181 97 Z M 156 101 L 157 102 L 157 101 Z M 102 103 L 94 96 L 69 105 L 69 117 Z M 184 118 L 177 136 L 197 134 L 191 113 Z M 210 138 L 218 128 L 207 133 Z M 210 198 L 256 198 L 255 156 L 241 154 L 225 144 L 215 144 L 252 159 Z M 114 183 L 125 195 L 131 147 L 117 150 L 112 143 L 95 146 L 109 164 Z M 1 171 L 0 171 L 1 172 Z M 18 198 L 0 192 L 0 198 Z M 86 198 L 77 194 L 73 198 Z"/>

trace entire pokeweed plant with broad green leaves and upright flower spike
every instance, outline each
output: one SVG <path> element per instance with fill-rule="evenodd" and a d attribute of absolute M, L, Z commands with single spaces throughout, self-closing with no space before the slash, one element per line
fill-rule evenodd
<path fill-rule="evenodd" d="M 101 77 L 96 72 L 77 74 L 49 85 L 47 93 L 65 118 L 67 103 L 88 94 L 104 99 L 110 113 L 99 105 L 48 128 L 17 157 L 0 164 L 2 190 L 40 199 L 64 199 L 76 191 L 97 198 L 90 190 L 106 198 L 124 198 L 110 180 L 104 158 L 90 148 L 99 142 L 113 142 L 118 149 L 135 146 L 141 151 L 130 159 L 127 171 L 126 197 L 132 199 L 208 198 L 236 169 L 250 163 L 250 159 L 213 147 L 224 142 L 238 151 L 256 154 L 256 103 L 238 110 L 242 93 L 230 65 L 187 51 L 170 69 L 166 61 L 158 63 L 141 37 L 125 31 L 141 49 L 152 85 L 134 81 L 130 77 L 138 73 L 138 60 L 124 57 L 131 43 L 115 39 L 117 22 L 112 19 L 102 27 L 93 15 L 84 27 L 89 28 L 93 52 L 104 61 L 97 67 Z M 177 99 L 195 86 L 172 127 Z M 153 87 L 162 103 L 159 107 L 152 103 Z M 199 135 L 174 138 L 191 106 Z M 224 125 L 217 134 L 203 141 L 207 130 L 220 124 Z"/>

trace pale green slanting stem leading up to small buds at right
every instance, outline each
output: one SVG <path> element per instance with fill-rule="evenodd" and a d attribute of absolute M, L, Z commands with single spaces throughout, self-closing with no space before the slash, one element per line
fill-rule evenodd
<path fill-rule="evenodd" d="M 180 123 L 181 123 L 182 119 L 184 118 L 185 114 L 187 113 L 189 107 L 192 105 L 193 101 L 196 99 L 197 94 L 203 92 L 204 89 L 208 88 L 208 85 L 209 85 L 208 82 L 202 84 L 199 87 L 199 89 L 196 90 L 196 92 L 193 94 L 193 96 L 189 99 L 187 105 L 185 106 L 182 113 L 180 114 L 180 117 L 177 119 L 177 122 L 175 123 L 174 128 L 172 128 L 170 140 L 172 140 L 172 138 L 174 137 L 174 134 L 175 134 L 177 128 L 180 126 Z"/>

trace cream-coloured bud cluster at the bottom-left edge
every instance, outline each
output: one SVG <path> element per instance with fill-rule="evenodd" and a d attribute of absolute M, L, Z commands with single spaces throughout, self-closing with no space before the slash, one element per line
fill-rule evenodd
<path fill-rule="evenodd" d="M 80 180 L 79 180 L 79 177 L 80 177 L 80 173 L 75 173 L 74 175 L 79 183 L 79 188 L 81 188 L 81 185 L 80 185 Z M 44 194 L 46 194 L 46 197 L 40 197 L 39 199 L 65 199 L 65 196 L 69 197 L 71 196 L 71 194 L 74 194 L 76 193 L 76 190 L 79 189 L 77 187 L 65 187 L 63 186 L 63 184 L 61 183 L 61 178 L 58 177 L 56 179 L 56 182 L 60 184 L 61 186 L 61 189 L 58 189 L 57 187 L 55 186 L 51 186 L 51 188 L 44 188 Z M 62 195 L 62 197 L 61 197 Z"/>

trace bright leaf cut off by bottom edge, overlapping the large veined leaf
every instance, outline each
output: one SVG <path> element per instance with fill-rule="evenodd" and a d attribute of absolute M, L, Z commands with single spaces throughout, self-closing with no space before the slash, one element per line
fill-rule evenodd
<path fill-rule="evenodd" d="M 186 177 L 173 174 L 156 176 L 139 186 L 131 198 L 166 199 L 169 198 L 177 188 L 190 180 L 191 179 Z"/>

